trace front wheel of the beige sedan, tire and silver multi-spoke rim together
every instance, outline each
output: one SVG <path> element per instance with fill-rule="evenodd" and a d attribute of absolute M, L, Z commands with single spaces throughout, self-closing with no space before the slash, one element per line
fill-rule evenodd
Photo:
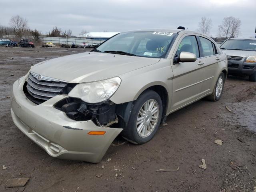
<path fill-rule="evenodd" d="M 148 106 L 151 110 L 146 110 L 145 106 Z M 143 116 L 141 115 L 142 111 L 145 112 Z M 144 144 L 150 141 L 160 126 L 162 113 L 163 106 L 160 96 L 153 90 L 146 90 L 134 102 L 129 122 L 122 131 L 122 136 L 134 144 Z"/>

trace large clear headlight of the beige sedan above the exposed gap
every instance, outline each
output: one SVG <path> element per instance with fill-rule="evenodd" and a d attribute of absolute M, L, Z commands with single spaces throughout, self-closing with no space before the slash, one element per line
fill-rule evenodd
<path fill-rule="evenodd" d="M 120 86 L 121 79 L 114 77 L 107 80 L 77 84 L 68 94 L 84 102 L 98 103 L 110 98 Z"/>

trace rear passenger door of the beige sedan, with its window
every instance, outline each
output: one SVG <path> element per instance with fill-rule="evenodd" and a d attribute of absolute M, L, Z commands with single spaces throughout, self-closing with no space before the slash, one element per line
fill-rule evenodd
<path fill-rule="evenodd" d="M 202 66 L 205 68 L 202 92 L 207 94 L 212 92 L 212 89 L 216 84 L 216 80 L 220 73 L 218 66 L 220 62 L 224 62 L 225 55 L 218 53 L 214 42 L 209 38 L 199 35 L 198 40 L 202 52 L 202 58 L 200 59 L 203 62 Z"/>

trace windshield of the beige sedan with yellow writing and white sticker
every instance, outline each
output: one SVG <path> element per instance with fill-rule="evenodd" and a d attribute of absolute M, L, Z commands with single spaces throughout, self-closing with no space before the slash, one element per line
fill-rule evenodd
<path fill-rule="evenodd" d="M 174 34 L 170 32 L 124 32 L 110 38 L 96 51 L 150 58 L 164 58 Z"/>

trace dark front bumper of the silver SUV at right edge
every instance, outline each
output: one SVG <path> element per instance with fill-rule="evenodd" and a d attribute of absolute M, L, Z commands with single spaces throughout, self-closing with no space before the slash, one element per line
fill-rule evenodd
<path fill-rule="evenodd" d="M 228 60 L 228 73 L 229 74 L 244 74 L 251 75 L 256 72 L 256 64 L 240 61 Z"/>

